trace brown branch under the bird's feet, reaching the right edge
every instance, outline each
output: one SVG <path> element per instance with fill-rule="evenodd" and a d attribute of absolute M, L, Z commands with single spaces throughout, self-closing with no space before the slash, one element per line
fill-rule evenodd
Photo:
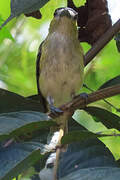
<path fill-rule="evenodd" d="M 95 91 L 91 94 L 88 94 L 88 97 L 85 99 L 81 95 L 78 95 L 75 99 L 72 101 L 60 106 L 59 108 L 65 112 L 74 112 L 76 109 L 83 109 L 87 104 L 96 102 L 101 99 L 109 98 L 111 96 L 115 96 L 120 94 L 120 84 L 110 86 L 104 89 L 100 89 L 98 91 Z M 61 113 L 62 114 L 62 113 Z M 54 115 L 52 112 L 48 114 L 50 117 L 58 117 L 59 115 Z"/>

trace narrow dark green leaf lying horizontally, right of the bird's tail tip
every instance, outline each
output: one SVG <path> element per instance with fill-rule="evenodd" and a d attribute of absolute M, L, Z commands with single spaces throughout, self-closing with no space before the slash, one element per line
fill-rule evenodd
<path fill-rule="evenodd" d="M 90 131 L 72 131 L 69 132 L 67 135 L 63 136 L 61 143 L 62 144 L 70 144 L 73 142 L 79 142 L 79 141 L 83 141 L 83 140 L 87 140 L 87 139 L 94 139 L 97 137 L 105 137 L 105 136 L 109 136 L 107 134 L 97 134 L 97 133 L 92 133 Z"/>

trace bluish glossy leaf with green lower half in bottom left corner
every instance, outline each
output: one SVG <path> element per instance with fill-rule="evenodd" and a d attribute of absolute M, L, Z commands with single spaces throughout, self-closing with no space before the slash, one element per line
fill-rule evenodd
<path fill-rule="evenodd" d="M 34 142 L 14 144 L 0 149 L 0 180 L 11 180 L 42 160 L 44 146 Z"/>

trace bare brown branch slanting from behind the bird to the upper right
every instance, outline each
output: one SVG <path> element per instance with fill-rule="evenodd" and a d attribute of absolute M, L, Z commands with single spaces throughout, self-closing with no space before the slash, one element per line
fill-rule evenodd
<path fill-rule="evenodd" d="M 120 19 L 109 28 L 85 55 L 85 66 L 104 48 L 104 46 L 120 31 Z"/>

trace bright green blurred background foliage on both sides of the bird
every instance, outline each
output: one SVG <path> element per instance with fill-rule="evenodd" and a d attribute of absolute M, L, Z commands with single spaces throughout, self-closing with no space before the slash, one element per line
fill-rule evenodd
<path fill-rule="evenodd" d="M 75 0 L 77 6 L 85 1 Z M 0 87 L 23 96 L 37 93 L 36 88 L 36 54 L 42 40 L 46 37 L 49 22 L 54 10 L 66 6 L 67 0 L 51 0 L 40 11 L 42 19 L 27 18 L 21 15 L 12 20 L 0 31 Z M 0 1 L 0 23 L 10 14 L 10 0 Z M 82 43 L 84 52 L 90 48 Z M 120 75 L 120 54 L 117 51 L 115 41 L 112 40 L 97 55 L 97 57 L 85 68 L 85 83 L 93 90 L 98 89 L 104 82 Z M 86 91 L 83 88 L 81 91 Z M 116 107 L 120 108 L 120 96 L 108 99 Z M 103 101 L 94 103 L 101 107 L 115 110 Z M 120 115 L 119 113 L 116 113 Z M 87 127 L 91 130 L 91 125 Z M 93 128 L 93 127 L 92 127 Z M 97 126 L 94 125 L 94 130 Z M 105 139 L 114 156 L 120 158 L 119 137 Z"/>

